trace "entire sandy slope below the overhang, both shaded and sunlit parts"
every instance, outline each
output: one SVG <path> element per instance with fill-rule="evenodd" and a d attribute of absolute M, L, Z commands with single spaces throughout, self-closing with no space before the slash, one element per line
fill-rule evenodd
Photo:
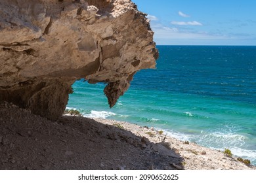
<path fill-rule="evenodd" d="M 0 104 L 0 169 L 255 169 L 151 127 L 62 116 L 51 122 Z"/>

